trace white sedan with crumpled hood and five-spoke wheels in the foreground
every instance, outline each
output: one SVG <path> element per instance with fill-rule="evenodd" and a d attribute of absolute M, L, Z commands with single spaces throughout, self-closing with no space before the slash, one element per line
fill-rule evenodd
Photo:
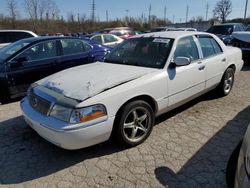
<path fill-rule="evenodd" d="M 157 32 L 125 40 L 104 62 L 34 83 L 21 101 L 26 122 L 66 149 L 111 137 L 142 143 L 155 117 L 211 90 L 228 95 L 242 68 L 240 49 L 202 32 Z"/>

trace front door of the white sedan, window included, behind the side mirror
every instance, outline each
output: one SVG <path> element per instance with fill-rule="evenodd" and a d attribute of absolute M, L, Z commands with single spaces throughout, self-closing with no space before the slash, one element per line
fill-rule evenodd
<path fill-rule="evenodd" d="M 191 63 L 187 66 L 169 65 L 169 106 L 185 102 L 205 89 L 205 66 L 194 39 L 189 36 L 177 42 L 173 61 L 176 57 L 186 57 Z"/>

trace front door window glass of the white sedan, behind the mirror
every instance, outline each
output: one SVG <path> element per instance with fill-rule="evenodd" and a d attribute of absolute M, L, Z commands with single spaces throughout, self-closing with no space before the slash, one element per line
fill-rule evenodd
<path fill-rule="evenodd" d="M 192 36 L 178 41 L 174 53 L 174 58 L 176 57 L 187 57 L 191 62 L 199 59 L 199 52 Z"/>

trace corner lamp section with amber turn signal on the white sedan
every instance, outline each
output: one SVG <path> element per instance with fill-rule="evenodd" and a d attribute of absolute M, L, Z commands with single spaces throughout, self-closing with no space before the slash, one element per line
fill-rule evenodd
<path fill-rule="evenodd" d="M 84 123 L 106 115 L 106 108 L 101 104 L 74 109 L 70 117 L 70 123 Z"/>

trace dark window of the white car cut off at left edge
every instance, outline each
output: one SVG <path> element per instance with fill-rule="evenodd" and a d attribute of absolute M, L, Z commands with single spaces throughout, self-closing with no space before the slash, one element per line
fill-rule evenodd
<path fill-rule="evenodd" d="M 20 39 L 33 37 L 33 35 L 26 32 L 0 32 L 0 43 L 12 43 Z"/>

